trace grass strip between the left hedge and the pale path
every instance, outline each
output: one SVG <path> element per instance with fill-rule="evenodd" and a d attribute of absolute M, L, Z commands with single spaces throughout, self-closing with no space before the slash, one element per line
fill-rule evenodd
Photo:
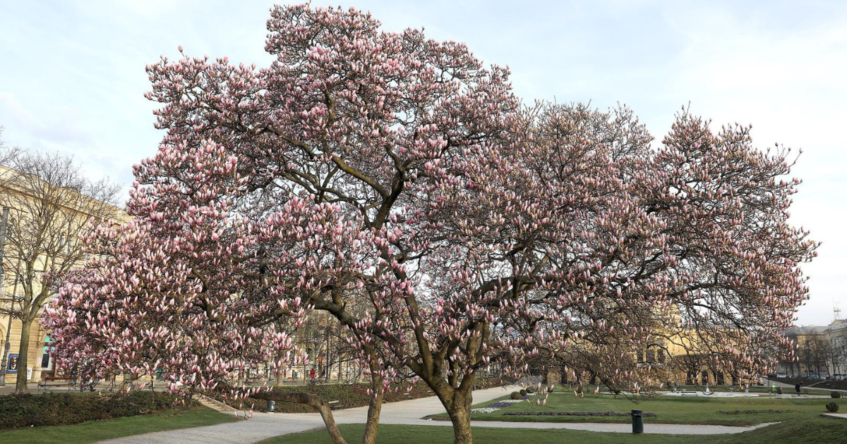
<path fill-rule="evenodd" d="M 152 431 L 184 429 L 235 421 L 232 415 L 197 407 L 184 412 L 165 410 L 102 421 L 86 421 L 75 425 L 30 427 L 0 431 L 3 444 L 83 444 L 120 436 L 141 435 Z"/>

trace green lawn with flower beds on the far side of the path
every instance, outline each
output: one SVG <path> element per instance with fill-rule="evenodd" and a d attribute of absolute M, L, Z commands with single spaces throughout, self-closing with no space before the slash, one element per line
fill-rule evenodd
<path fill-rule="evenodd" d="M 488 407 L 488 404 L 507 399 L 499 399 L 474 405 L 474 408 Z M 533 400 L 530 397 L 530 400 Z M 583 399 L 573 394 L 554 392 L 547 398 L 546 406 L 534 403 L 516 403 L 491 413 L 474 413 L 473 420 L 516 421 L 516 422 L 610 422 L 628 423 L 628 416 L 512 416 L 507 412 L 620 412 L 628 413 L 639 408 L 645 414 L 645 425 L 664 424 L 703 424 L 703 425 L 756 425 L 789 419 L 813 418 L 826 413 L 824 407 L 832 399 L 782 398 L 773 397 L 645 397 L 639 403 L 633 403 L 624 397 L 612 395 L 586 395 Z M 838 402 L 839 400 L 835 400 Z M 847 408 L 847 403 L 843 403 Z M 739 414 L 723 414 L 734 412 Z M 746 411 L 746 412 L 745 412 Z M 439 414 L 433 419 L 447 419 Z M 844 424 L 847 428 L 847 423 Z"/>

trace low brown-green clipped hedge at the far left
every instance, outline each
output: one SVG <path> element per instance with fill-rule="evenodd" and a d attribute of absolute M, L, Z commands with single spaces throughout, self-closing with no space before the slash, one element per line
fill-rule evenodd
<path fill-rule="evenodd" d="M 0 430 L 148 414 L 169 408 L 177 401 L 174 395 L 157 392 L 0 396 Z"/>

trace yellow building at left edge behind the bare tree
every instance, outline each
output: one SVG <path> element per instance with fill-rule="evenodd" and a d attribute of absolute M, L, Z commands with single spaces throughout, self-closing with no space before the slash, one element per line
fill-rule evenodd
<path fill-rule="evenodd" d="M 58 155 L 23 152 L 0 166 L 0 378 L 6 370 L 7 385 L 53 372 L 43 306 L 55 295 L 56 278 L 86 259 L 80 236 L 89 220 L 128 220 L 113 205 L 118 195 L 119 187 L 91 183 Z"/>

